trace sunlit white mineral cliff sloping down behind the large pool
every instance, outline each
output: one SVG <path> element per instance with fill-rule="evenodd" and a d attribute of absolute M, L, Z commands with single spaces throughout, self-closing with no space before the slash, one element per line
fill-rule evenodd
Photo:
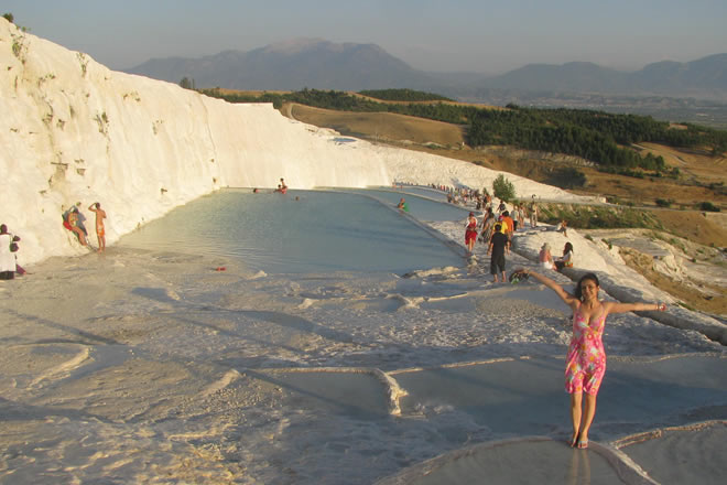
<path fill-rule="evenodd" d="M 270 105 L 231 105 L 109 71 L 0 19 L 0 223 L 22 237 L 19 262 L 85 251 L 62 226 L 100 202 L 107 241 L 226 186 L 491 186 L 499 172 L 442 157 L 336 142 Z M 519 194 L 577 200 L 507 175 Z M 87 225 L 91 226 L 89 220 Z M 91 237 L 94 240 L 94 237 Z"/>

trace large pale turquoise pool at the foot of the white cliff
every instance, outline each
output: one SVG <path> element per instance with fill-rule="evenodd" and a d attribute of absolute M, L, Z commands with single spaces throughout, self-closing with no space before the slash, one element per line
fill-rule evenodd
<path fill-rule="evenodd" d="M 268 273 L 402 273 L 463 262 L 408 217 L 370 197 L 315 191 L 221 191 L 175 208 L 119 245 L 232 257 Z"/>

